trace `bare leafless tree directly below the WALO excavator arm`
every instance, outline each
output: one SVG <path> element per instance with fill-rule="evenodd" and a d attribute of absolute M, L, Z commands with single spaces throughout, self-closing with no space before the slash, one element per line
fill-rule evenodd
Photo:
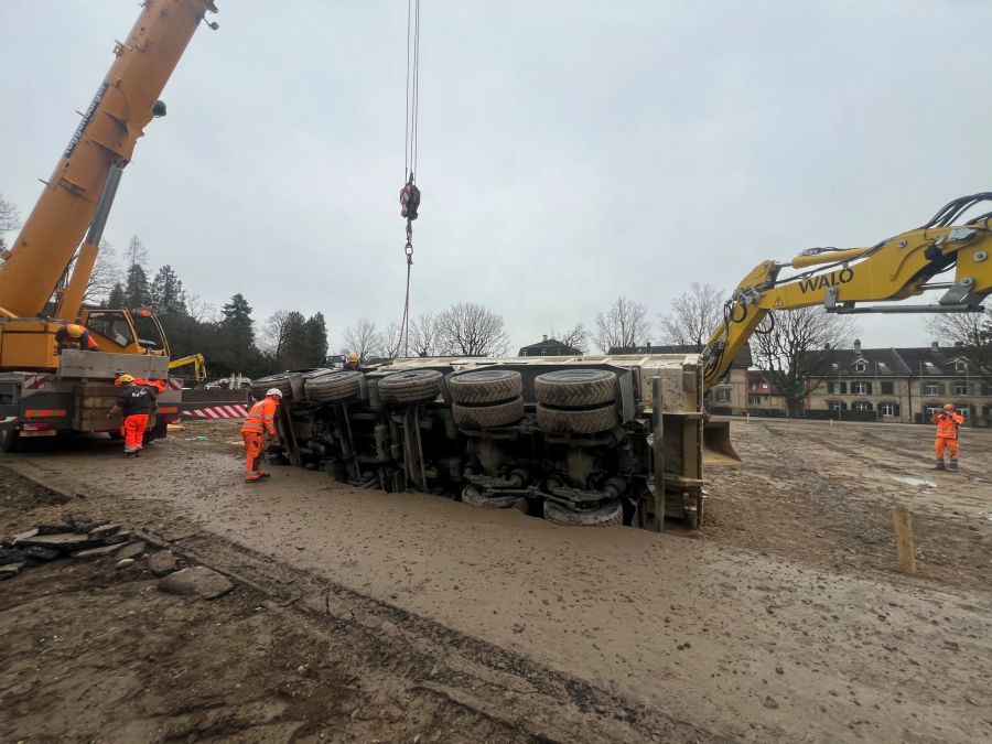
<path fill-rule="evenodd" d="M 822 308 L 769 313 L 752 336 L 755 364 L 786 399 L 789 416 L 806 414 L 806 396 L 832 374 L 834 349 L 849 346 L 858 328 L 848 315 Z"/>

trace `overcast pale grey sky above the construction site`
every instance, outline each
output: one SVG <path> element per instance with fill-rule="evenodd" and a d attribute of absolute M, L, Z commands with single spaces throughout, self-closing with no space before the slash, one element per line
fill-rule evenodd
<path fill-rule="evenodd" d="M 217 0 L 105 237 L 223 304 L 399 321 L 407 3 Z M 692 281 L 862 246 L 992 187 L 983 0 L 422 0 L 413 314 L 473 301 L 514 346 L 651 317 Z M 138 15 L 0 0 L 0 193 L 31 211 Z M 865 345 L 928 341 L 860 319 Z M 655 334 L 657 336 L 657 333 Z M 656 338 L 657 339 L 657 338 Z"/>

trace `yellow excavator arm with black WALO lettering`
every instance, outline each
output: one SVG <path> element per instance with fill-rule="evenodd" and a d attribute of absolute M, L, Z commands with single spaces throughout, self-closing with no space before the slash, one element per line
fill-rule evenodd
<path fill-rule="evenodd" d="M 730 369 L 736 353 L 765 316 L 776 310 L 821 305 L 835 313 L 984 312 L 992 293 L 992 212 L 961 225 L 971 207 L 992 202 L 992 192 L 950 202 L 926 225 L 870 248 L 811 248 L 788 263 L 764 261 L 737 285 L 723 321 L 703 349 L 703 388 Z M 786 268 L 799 273 L 780 278 Z M 934 281 L 955 270 L 953 281 Z M 891 304 L 944 290 L 935 304 Z M 859 306 L 859 303 L 884 303 Z"/>

